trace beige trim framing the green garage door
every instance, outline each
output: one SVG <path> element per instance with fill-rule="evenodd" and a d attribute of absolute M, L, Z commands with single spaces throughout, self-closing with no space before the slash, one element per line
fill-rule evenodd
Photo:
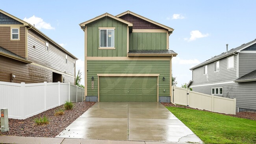
<path fill-rule="evenodd" d="M 159 76 L 160 74 L 97 74 L 98 76 L 98 102 L 100 102 L 100 78 L 99 77 L 157 77 L 157 102 L 159 102 Z"/>

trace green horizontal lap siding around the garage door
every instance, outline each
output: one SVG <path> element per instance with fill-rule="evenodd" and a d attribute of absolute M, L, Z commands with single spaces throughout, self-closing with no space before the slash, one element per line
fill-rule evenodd
<path fill-rule="evenodd" d="M 97 74 L 160 74 L 159 96 L 170 96 L 170 61 L 88 60 L 87 70 L 87 96 L 98 96 Z M 91 89 L 92 77 L 94 77 L 94 89 Z"/>

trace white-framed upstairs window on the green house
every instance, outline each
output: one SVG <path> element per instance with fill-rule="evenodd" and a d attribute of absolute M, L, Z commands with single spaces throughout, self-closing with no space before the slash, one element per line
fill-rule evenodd
<path fill-rule="evenodd" d="M 114 29 L 100 29 L 100 47 L 114 47 Z"/>

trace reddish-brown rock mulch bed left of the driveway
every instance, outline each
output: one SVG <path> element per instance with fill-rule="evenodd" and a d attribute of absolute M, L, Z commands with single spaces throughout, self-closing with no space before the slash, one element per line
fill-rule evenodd
<path fill-rule="evenodd" d="M 65 109 L 64 105 L 55 107 L 37 114 L 25 120 L 9 118 L 9 132 L 0 135 L 24 136 L 24 137 L 56 137 L 63 129 L 69 126 L 76 118 L 92 107 L 95 102 L 76 102 L 72 110 L 65 110 L 63 115 L 54 116 L 59 109 Z M 46 116 L 49 124 L 43 126 L 35 125 L 35 118 Z"/>

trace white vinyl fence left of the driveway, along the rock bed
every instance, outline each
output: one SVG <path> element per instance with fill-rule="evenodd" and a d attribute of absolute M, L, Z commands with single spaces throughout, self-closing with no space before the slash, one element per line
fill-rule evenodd
<path fill-rule="evenodd" d="M 0 108 L 9 118 L 26 119 L 65 103 L 82 102 L 84 89 L 70 83 L 9 83 L 0 81 Z"/>

